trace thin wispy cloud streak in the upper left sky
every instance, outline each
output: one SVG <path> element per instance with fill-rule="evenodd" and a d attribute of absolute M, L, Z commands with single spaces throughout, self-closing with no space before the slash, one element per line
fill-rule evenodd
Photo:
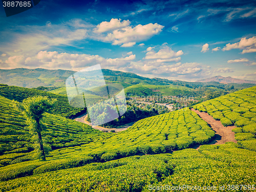
<path fill-rule="evenodd" d="M 32 56 L 39 51 L 48 50 L 52 46 L 62 44 L 72 46 L 73 41 L 88 37 L 88 30 L 80 29 L 79 26 L 88 25 L 85 22 L 82 23 L 80 19 L 76 19 L 50 26 L 16 26 L 15 32 L 14 30 L 9 32 L 12 38 L 8 43 L 2 43 L 1 48 L 10 56 L 15 56 L 21 51 L 23 55 Z"/>

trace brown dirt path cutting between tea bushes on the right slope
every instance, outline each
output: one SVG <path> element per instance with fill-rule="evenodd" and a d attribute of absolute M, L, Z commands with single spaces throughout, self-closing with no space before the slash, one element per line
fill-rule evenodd
<path fill-rule="evenodd" d="M 234 139 L 234 132 L 232 129 L 236 128 L 236 126 L 223 126 L 221 121 L 215 120 L 208 113 L 200 112 L 195 109 L 191 109 L 191 111 L 196 112 L 203 120 L 205 120 L 208 124 L 210 124 L 211 129 L 216 132 L 215 137 L 207 144 L 224 144 L 225 142 L 232 141 L 237 142 Z M 199 148 L 200 146 L 197 146 Z"/>

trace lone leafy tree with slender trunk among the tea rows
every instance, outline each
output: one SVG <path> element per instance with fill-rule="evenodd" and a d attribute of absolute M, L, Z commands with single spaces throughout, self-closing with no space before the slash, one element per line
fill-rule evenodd
<path fill-rule="evenodd" d="M 36 143 L 39 144 L 40 152 L 39 159 L 45 161 L 45 150 L 42 144 L 42 136 L 41 132 L 44 130 L 45 125 L 40 121 L 45 112 L 54 106 L 56 99 L 48 99 L 48 97 L 44 96 L 35 96 L 24 99 L 22 103 L 13 100 L 14 107 L 22 112 L 22 114 L 26 118 L 26 124 L 29 126 L 29 130 L 32 135 L 36 138 Z"/>

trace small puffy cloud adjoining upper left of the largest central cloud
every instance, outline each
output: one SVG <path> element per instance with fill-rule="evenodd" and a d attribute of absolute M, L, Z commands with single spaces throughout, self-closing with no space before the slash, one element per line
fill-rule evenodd
<path fill-rule="evenodd" d="M 115 29 L 123 28 L 126 26 L 129 26 L 131 22 L 129 20 L 123 20 L 121 22 L 121 19 L 112 18 L 110 22 L 101 22 L 97 27 L 94 29 L 95 33 L 103 33 L 106 31 L 113 31 Z"/>

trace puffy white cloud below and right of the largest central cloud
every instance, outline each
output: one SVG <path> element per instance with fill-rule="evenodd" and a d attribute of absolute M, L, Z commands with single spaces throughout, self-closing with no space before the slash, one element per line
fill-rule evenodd
<path fill-rule="evenodd" d="M 147 51 L 150 50 L 149 48 L 147 48 Z M 148 51 L 144 59 L 170 59 L 173 57 L 179 57 L 182 54 L 183 52 L 181 50 L 175 52 L 171 48 L 166 46 L 164 49 L 160 49 L 157 53 L 154 50 Z"/>

